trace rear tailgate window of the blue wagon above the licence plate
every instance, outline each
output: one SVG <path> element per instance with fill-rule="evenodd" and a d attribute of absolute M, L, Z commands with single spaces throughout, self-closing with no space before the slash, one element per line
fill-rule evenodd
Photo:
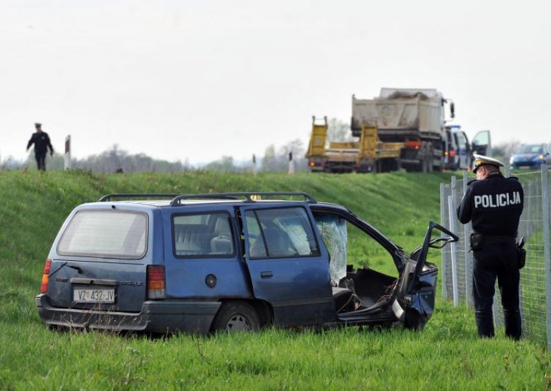
<path fill-rule="evenodd" d="M 138 260 L 147 251 L 147 215 L 122 211 L 79 211 L 63 233 L 57 253 Z"/>

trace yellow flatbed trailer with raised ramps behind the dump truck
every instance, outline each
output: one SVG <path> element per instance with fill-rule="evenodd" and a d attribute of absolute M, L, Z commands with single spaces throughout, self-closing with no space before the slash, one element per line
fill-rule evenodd
<path fill-rule="evenodd" d="M 306 158 L 312 172 L 386 172 L 399 169 L 402 142 L 382 142 L 377 127 L 363 123 L 359 140 L 329 142 L 327 145 L 327 117 L 312 117 L 312 134 Z"/>

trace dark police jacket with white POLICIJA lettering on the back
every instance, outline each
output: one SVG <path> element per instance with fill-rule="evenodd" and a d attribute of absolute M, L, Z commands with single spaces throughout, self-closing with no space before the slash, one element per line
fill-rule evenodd
<path fill-rule="evenodd" d="M 517 237 L 523 202 L 518 178 L 493 172 L 486 179 L 468 182 L 457 217 L 463 224 L 472 220 L 474 233 Z"/>

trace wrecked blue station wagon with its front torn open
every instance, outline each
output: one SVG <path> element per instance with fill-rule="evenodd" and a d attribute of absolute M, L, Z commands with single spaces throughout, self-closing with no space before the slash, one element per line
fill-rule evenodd
<path fill-rule="evenodd" d="M 302 192 L 110 194 L 67 217 L 36 301 L 42 321 L 68 328 L 420 329 L 435 305 L 428 248 L 453 241 L 430 222 L 408 255 L 346 207 Z M 395 275 L 353 268 L 368 254 Z"/>

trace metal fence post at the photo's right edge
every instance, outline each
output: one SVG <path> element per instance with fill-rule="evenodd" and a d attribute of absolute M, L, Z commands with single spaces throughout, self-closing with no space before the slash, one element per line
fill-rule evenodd
<path fill-rule="evenodd" d="M 548 165 L 541 165 L 541 213 L 543 218 L 543 258 L 545 264 L 545 319 L 547 323 L 547 347 L 551 348 L 551 249 L 549 240 L 549 187 Z"/>

